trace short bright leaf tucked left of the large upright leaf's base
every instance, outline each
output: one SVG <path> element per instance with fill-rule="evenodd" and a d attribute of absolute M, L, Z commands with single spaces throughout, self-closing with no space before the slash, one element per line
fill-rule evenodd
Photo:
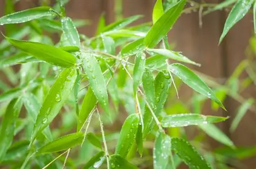
<path fill-rule="evenodd" d="M 145 48 L 143 45 L 144 38 L 137 39 L 131 43 L 128 43 L 121 49 L 122 57 L 128 57 L 134 55 Z"/>

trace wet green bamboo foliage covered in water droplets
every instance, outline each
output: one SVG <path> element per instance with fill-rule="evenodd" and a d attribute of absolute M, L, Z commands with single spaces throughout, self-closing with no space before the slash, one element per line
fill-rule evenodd
<path fill-rule="evenodd" d="M 171 85 L 176 89 L 179 81 L 200 94 L 194 99 L 198 104 L 209 98 L 217 108 L 224 110 L 217 94 L 223 99 L 229 90 L 226 87 L 212 91 L 203 78 L 181 63 L 200 64 L 170 49 L 167 33 L 182 13 L 186 1 L 166 2 L 163 6 L 162 1 L 157 0 L 152 26 L 146 23 L 127 27 L 141 16 L 105 25 L 102 15 L 96 36 L 92 38 L 77 32 L 77 27 L 84 21 L 66 16 L 66 1 L 59 1 L 53 8 L 7 10 L 11 14 L 0 18 L 0 25 L 8 27 L 7 36 L 0 44 L 0 68 L 11 75 L 9 80 L 18 86 L 10 89 L 0 81 L 4 91 L 0 95 L 3 112 L 1 164 L 18 168 L 61 168 L 65 165 L 74 168 L 138 168 L 137 165 L 143 166 L 147 160 L 137 158 L 138 152 L 141 157 L 153 154 L 154 168 L 175 168 L 181 161 L 190 168 L 210 168 L 209 163 L 212 167 L 210 157 L 201 156 L 185 136 L 169 134 L 173 127 L 189 125 L 198 126 L 209 136 L 234 148 L 231 140 L 211 124 L 225 121 L 227 117 L 204 116 L 199 109 L 194 114 L 166 114 L 164 111 Z M 252 2 L 238 1 L 232 11 L 242 8 L 241 3 L 247 7 L 243 12 L 239 10 L 242 16 Z M 8 7 L 12 5 L 7 3 Z M 233 19 L 232 11 L 221 40 L 240 18 Z M 16 27 L 16 23 L 23 24 Z M 44 31 L 58 33 L 58 43 L 54 44 Z M 28 41 L 18 40 L 25 37 Z M 179 63 L 173 63 L 176 61 Z M 17 64 L 21 66 L 19 74 L 15 75 L 11 66 Z M 230 79 L 237 80 L 242 70 L 238 71 L 236 77 Z M 237 96 L 236 92 L 230 95 Z M 243 110 L 232 130 L 252 103 L 250 99 L 241 106 Z M 120 104 L 129 115 L 119 132 L 105 134 L 103 123 L 115 125 L 121 117 Z M 19 115 L 23 106 L 26 114 Z M 58 117 L 62 118 L 63 128 L 50 129 L 49 125 L 56 123 Z M 91 123 L 95 120 L 99 123 Z M 96 134 L 98 128 L 100 134 Z M 17 135 L 19 140 L 14 139 Z M 146 140 L 151 139 L 155 140 L 153 152 L 145 152 Z M 110 144 L 113 141 L 114 144 Z M 79 152 L 76 161 L 68 158 L 72 151 Z M 65 153 L 66 158 L 62 156 Z M 136 163 L 133 159 L 144 161 Z"/>

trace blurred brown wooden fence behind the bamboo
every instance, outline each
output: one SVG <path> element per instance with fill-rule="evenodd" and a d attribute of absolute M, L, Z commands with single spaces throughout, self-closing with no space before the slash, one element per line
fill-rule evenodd
<path fill-rule="evenodd" d="M 21 0 L 17 3 L 16 10 L 35 7 L 38 2 L 39 0 Z M 218 0 L 208 0 L 206 2 L 218 3 Z M 141 14 L 144 17 L 136 23 L 151 21 L 154 3 L 155 0 L 123 0 L 123 16 Z M 5 0 L 1 0 L 0 16 L 4 14 L 4 4 Z M 71 0 L 66 7 L 67 15 L 73 18 L 90 19 L 91 25 L 85 26 L 79 31 L 88 36 L 93 36 L 102 12 L 105 13 L 107 23 L 115 20 L 114 4 L 115 0 Z M 245 58 L 245 48 L 252 35 L 253 27 L 252 15 L 246 15 L 230 30 L 222 44 L 218 46 L 226 17 L 227 12 L 225 11 L 208 14 L 202 18 L 203 25 L 200 28 L 198 12 L 183 14 L 169 33 L 169 41 L 176 43 L 176 50 L 182 51 L 187 57 L 202 64 L 202 67 L 195 69 L 220 79 L 226 79 L 232 74 L 234 68 Z M 186 95 L 186 92 L 182 92 L 182 94 Z M 245 96 L 256 96 L 255 94 L 255 88 L 247 89 L 245 92 Z M 224 104 L 228 111 L 218 112 L 218 115 L 233 117 L 239 103 L 228 98 Z M 204 107 L 204 114 L 217 114 L 211 112 L 209 107 L 209 104 Z M 222 123 L 220 127 L 237 146 L 253 146 L 256 143 L 255 120 L 254 112 L 248 112 L 236 132 L 229 132 L 230 120 Z M 217 145 L 216 142 L 212 140 L 211 142 L 212 145 Z M 255 158 L 243 162 L 248 164 L 249 168 L 254 168 L 256 166 Z"/>

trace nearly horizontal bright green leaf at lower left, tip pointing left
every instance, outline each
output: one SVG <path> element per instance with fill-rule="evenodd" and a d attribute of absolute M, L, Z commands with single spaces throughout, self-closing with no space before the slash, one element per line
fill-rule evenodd
<path fill-rule="evenodd" d="M 82 143 L 83 140 L 83 133 L 77 132 L 68 134 L 62 137 L 59 137 L 52 142 L 42 146 L 36 151 L 36 154 L 46 154 L 46 153 L 54 153 L 63 150 L 67 150 L 69 148 L 75 147 Z"/>

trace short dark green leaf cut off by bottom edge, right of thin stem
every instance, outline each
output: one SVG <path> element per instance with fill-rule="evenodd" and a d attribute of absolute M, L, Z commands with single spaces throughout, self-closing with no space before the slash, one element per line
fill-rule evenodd
<path fill-rule="evenodd" d="M 111 168 L 115 169 L 138 169 L 137 166 L 133 165 L 118 154 L 113 154 L 110 156 L 110 164 Z"/>

